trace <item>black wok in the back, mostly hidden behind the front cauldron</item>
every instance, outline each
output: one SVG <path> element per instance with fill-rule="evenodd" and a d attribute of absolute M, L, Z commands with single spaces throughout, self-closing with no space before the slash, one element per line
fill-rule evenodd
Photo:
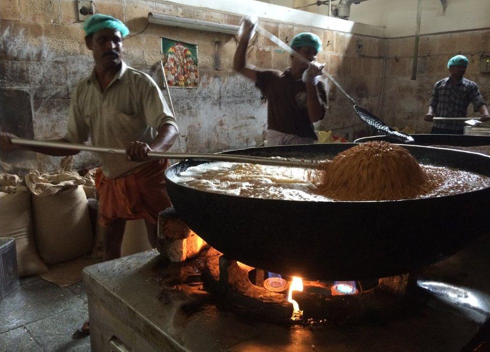
<path fill-rule="evenodd" d="M 409 144 L 417 145 L 453 145 L 460 147 L 475 147 L 479 145 L 490 145 L 490 136 L 472 136 L 463 134 L 411 134 L 414 141 Z M 358 138 L 355 143 L 369 141 L 387 141 L 391 139 L 388 136 L 372 136 Z"/>

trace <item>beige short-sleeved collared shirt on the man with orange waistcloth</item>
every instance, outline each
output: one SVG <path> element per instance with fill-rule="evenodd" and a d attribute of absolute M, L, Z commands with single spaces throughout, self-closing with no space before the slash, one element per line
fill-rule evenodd
<path fill-rule="evenodd" d="M 84 143 L 90 135 L 94 146 L 126 149 L 136 140 L 149 144 L 162 124 L 178 129 L 157 83 L 122 62 L 104 92 L 94 71 L 76 85 L 65 138 Z M 111 179 L 142 166 L 126 155 L 99 153 L 99 158 L 104 175 Z"/>

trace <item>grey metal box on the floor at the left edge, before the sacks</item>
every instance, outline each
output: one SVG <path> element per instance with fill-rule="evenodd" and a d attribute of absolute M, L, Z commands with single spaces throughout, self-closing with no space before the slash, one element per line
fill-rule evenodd
<path fill-rule="evenodd" d="M 19 286 L 14 238 L 0 238 L 0 298 Z"/>

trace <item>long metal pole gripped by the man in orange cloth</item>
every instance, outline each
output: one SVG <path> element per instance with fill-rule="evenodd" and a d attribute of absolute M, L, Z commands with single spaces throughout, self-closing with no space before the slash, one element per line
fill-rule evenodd
<path fill-rule="evenodd" d="M 58 149 L 70 149 L 70 150 L 84 150 L 93 151 L 97 153 L 107 154 L 121 154 L 127 155 L 124 149 L 114 149 L 105 147 L 95 147 L 85 144 L 71 144 L 62 142 L 49 142 L 49 141 L 36 141 L 22 138 L 12 138 L 13 144 L 25 145 L 31 147 L 45 147 L 45 148 L 58 148 Z M 253 164 L 263 165 L 277 165 L 287 167 L 306 167 L 306 168 L 318 168 L 324 163 L 322 160 L 308 160 L 300 161 L 293 158 L 268 158 L 263 156 L 248 156 L 248 155 L 233 155 L 233 154 L 210 154 L 210 153 L 174 153 L 174 152 L 160 152 L 151 151 L 148 156 L 156 159 L 196 159 L 196 160 L 213 160 L 213 161 L 229 161 L 229 162 L 247 162 Z"/>

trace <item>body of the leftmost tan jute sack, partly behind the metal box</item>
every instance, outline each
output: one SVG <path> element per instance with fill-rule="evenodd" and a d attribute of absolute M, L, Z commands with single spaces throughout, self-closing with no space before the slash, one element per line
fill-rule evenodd
<path fill-rule="evenodd" d="M 0 237 L 15 238 L 19 276 L 48 271 L 36 251 L 29 192 L 0 192 Z"/>

